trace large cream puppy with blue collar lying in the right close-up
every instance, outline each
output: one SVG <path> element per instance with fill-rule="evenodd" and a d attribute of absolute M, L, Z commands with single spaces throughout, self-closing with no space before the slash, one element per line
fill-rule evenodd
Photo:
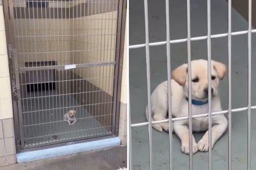
<path fill-rule="evenodd" d="M 192 64 L 192 114 L 208 113 L 208 62 L 207 60 L 193 60 Z M 221 101 L 218 96 L 219 81 L 224 78 L 226 65 L 212 60 L 212 112 L 221 111 Z M 172 115 L 173 117 L 188 116 L 188 64 L 183 64 L 172 72 Z M 168 86 L 167 81 L 162 82 L 153 91 L 152 121 L 160 121 L 168 116 Z M 146 107 L 148 119 L 148 106 Z M 155 130 L 169 131 L 168 123 L 152 124 Z M 193 137 L 193 153 L 208 151 L 221 137 L 228 126 L 224 115 L 212 115 L 212 146 L 208 144 L 208 117 L 192 119 L 193 132 L 206 131 L 198 143 Z M 182 153 L 189 153 L 188 119 L 173 122 L 173 130 L 181 139 Z"/>

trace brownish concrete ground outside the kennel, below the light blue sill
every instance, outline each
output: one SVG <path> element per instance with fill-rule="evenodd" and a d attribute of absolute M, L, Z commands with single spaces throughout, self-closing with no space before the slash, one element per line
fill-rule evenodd
<path fill-rule="evenodd" d="M 1 170 L 115 170 L 126 167 L 126 146 L 0 167 Z"/>

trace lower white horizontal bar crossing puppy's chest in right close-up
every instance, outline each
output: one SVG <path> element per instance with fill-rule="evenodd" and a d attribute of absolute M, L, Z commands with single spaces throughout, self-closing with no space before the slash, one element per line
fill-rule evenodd
<path fill-rule="evenodd" d="M 251 106 L 251 109 L 255 110 L 256 106 Z M 234 108 L 234 109 L 231 110 L 231 112 L 235 113 L 235 112 L 242 112 L 242 111 L 246 111 L 246 110 L 248 110 L 248 107 Z M 219 111 L 219 112 L 212 112 L 212 115 L 220 115 L 220 114 L 227 114 L 227 113 L 228 113 L 228 110 L 222 110 L 222 111 Z M 199 117 L 206 117 L 206 116 L 208 116 L 208 113 L 199 114 L 199 115 L 192 115 L 192 118 L 199 118 Z M 186 120 L 186 119 L 188 119 L 188 116 L 172 118 L 172 121 L 182 121 L 182 120 Z M 152 121 L 152 124 L 166 123 L 168 121 L 169 121 L 169 119 L 164 119 L 164 120 L 161 120 L 161 121 Z M 135 123 L 135 124 L 132 124 L 131 126 L 132 127 L 138 127 L 138 126 L 146 126 L 146 125 L 148 125 L 148 122 Z"/>

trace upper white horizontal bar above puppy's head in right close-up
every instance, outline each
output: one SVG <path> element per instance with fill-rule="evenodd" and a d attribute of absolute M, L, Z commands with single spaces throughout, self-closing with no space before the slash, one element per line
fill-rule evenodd
<path fill-rule="evenodd" d="M 256 29 L 255 30 L 251 30 L 251 33 L 256 33 Z M 248 30 L 231 32 L 231 35 L 244 35 L 244 34 L 248 34 Z M 211 35 L 210 37 L 211 38 L 228 37 L 228 33 L 215 34 L 215 35 Z M 190 40 L 191 41 L 195 41 L 195 40 L 205 40 L 205 39 L 207 39 L 207 36 L 192 37 Z M 188 40 L 188 38 L 181 38 L 181 39 L 177 39 L 177 40 L 170 40 L 170 44 L 186 42 L 187 40 Z M 161 45 L 164 45 L 164 44 L 166 44 L 166 41 L 151 42 L 149 45 L 150 46 L 161 46 Z M 141 48 L 141 47 L 145 47 L 145 46 L 146 46 L 146 44 L 135 44 L 135 45 L 129 46 L 129 49 Z"/>

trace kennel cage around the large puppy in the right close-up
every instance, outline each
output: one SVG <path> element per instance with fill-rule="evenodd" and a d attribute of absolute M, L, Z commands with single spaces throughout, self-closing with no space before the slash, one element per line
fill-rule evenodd
<path fill-rule="evenodd" d="M 252 150 L 256 138 L 252 122 L 256 118 L 256 95 L 255 76 L 251 75 L 255 72 L 256 31 L 251 27 L 251 1 L 246 10 L 248 21 L 232 8 L 231 1 L 130 1 L 130 169 L 255 167 L 256 155 Z M 162 81 L 170 82 L 170 72 L 175 67 L 201 58 L 217 60 L 228 67 L 227 76 L 220 83 L 223 111 L 192 115 L 190 103 L 187 117 L 146 121 L 146 105 L 150 105 L 155 87 Z M 170 100 L 168 104 L 171 115 Z M 192 155 L 190 147 L 189 156 L 182 154 L 181 142 L 175 134 L 152 129 L 152 124 L 168 122 L 171 131 L 173 121 L 187 119 L 192 139 L 193 117 L 208 117 L 211 133 L 211 115 L 215 114 L 226 114 L 229 127 L 213 150 L 206 153 Z M 198 142 L 204 133 L 193 135 Z"/>

